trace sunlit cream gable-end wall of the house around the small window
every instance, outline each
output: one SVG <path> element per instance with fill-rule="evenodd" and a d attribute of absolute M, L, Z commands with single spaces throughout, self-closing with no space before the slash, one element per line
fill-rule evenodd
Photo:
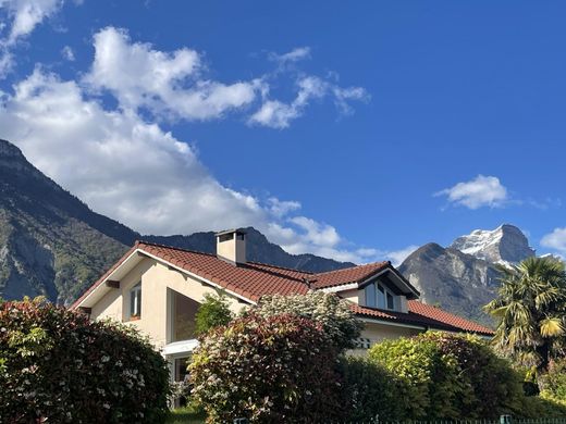
<path fill-rule="evenodd" d="M 130 319 L 130 289 L 142 280 L 142 316 Z M 171 329 L 171 291 L 175 290 L 199 303 L 205 295 L 216 294 L 213 287 L 169 269 L 160 262 L 145 258 L 120 282 L 120 288 L 113 289 L 100 299 L 91 311 L 94 320 L 111 317 L 127 322 L 147 334 L 157 349 L 170 342 Z M 229 296 L 230 309 L 238 312 L 244 303 Z"/>

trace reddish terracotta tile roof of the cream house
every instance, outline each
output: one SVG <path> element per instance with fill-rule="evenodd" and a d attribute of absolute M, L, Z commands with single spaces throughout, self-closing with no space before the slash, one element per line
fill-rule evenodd
<path fill-rule="evenodd" d="M 179 266 L 184 271 L 196 274 L 201 278 L 218 284 L 222 288 L 254 302 L 258 301 L 261 296 L 267 295 L 304 295 L 310 289 L 357 283 L 367 279 L 369 276 L 386 267 L 393 269 L 390 262 L 377 262 L 345 270 L 312 274 L 256 262 L 234 265 L 218 259 L 216 254 L 136 241 L 136 244 L 85 294 L 83 294 L 83 296 L 81 296 L 71 308 L 74 309 L 78 307 L 89 292 L 101 285 L 104 279 L 136 250 L 139 250 L 142 254 L 146 253 L 159 258 L 171 265 Z M 378 310 L 360 307 L 354 303 L 352 304 L 352 310 L 356 314 L 362 316 L 377 317 L 380 320 L 413 324 L 422 327 L 455 332 L 465 331 L 483 335 L 493 334 L 491 329 L 484 326 L 419 301 L 409 300 L 408 305 L 409 313 Z"/>

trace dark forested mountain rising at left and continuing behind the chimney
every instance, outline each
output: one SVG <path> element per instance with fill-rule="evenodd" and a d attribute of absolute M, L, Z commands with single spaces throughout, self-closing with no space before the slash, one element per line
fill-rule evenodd
<path fill-rule="evenodd" d="M 47 296 L 69 303 L 136 239 L 214 252 L 214 233 L 142 236 L 91 211 L 0 140 L 0 297 Z M 349 266 L 312 254 L 288 254 L 248 228 L 248 258 L 305 271 Z"/>

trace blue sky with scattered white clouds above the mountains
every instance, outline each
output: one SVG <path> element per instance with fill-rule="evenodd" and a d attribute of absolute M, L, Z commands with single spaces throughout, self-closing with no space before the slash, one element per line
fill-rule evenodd
<path fill-rule="evenodd" d="M 559 1 L 0 0 L 0 137 L 143 233 L 566 253 Z"/>

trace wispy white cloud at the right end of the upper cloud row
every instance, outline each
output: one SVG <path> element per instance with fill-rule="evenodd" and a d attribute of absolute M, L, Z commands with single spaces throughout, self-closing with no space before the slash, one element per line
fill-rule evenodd
<path fill-rule="evenodd" d="M 287 128 L 292 121 L 304 114 L 307 105 L 315 99 L 332 96 L 339 110 L 346 114 L 353 112 L 347 100 L 369 99 L 369 95 L 361 87 L 341 88 L 317 76 L 303 76 L 296 85 L 297 95 L 291 103 L 267 98 L 261 108 L 249 117 L 248 124 Z"/>

